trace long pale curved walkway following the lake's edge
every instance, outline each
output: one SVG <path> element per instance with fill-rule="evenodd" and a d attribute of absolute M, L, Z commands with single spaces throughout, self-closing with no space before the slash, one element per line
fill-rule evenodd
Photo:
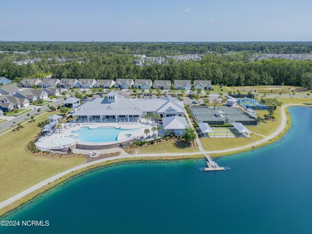
<path fill-rule="evenodd" d="M 237 150 L 243 150 L 243 149 L 246 149 L 246 148 L 249 148 L 249 147 L 252 147 L 252 146 L 256 146 L 256 145 L 259 145 L 259 144 L 262 144 L 276 136 L 278 136 L 278 134 L 280 134 L 283 129 L 285 128 L 286 126 L 286 120 L 287 120 L 287 117 L 286 117 L 286 114 L 285 114 L 285 108 L 286 107 L 289 107 L 289 106 L 309 106 L 309 105 L 304 105 L 304 104 L 288 104 L 288 105 L 284 105 L 281 107 L 281 113 L 282 113 L 282 120 L 281 120 L 281 124 L 280 126 L 276 129 L 275 132 L 273 132 L 271 135 L 257 141 L 257 142 L 254 142 L 252 144 L 248 144 L 248 145 L 245 145 L 245 146 L 241 146 L 241 147 L 236 147 L 236 148 L 232 148 L 232 149 L 227 149 L 227 150 L 215 150 L 215 151 L 201 151 L 201 152 L 195 152 L 195 153 L 164 153 L 164 154 L 137 154 L 137 155 L 120 155 L 120 156 L 115 156 L 115 157 L 109 157 L 109 158 L 103 158 L 103 159 L 99 159 L 97 161 L 93 161 L 93 162 L 89 162 L 89 163 L 84 163 L 84 164 L 81 164 L 81 165 L 78 165 L 76 167 L 73 167 L 71 169 L 68 169 L 64 172 L 61 172 L 55 176 L 51 176 L 50 178 L 47 178 L 41 182 L 39 182 L 38 184 L 35 184 L 34 186 L 20 192 L 19 194 L 17 195 L 14 195 L 2 202 L 0 202 L 0 209 L 19 200 L 20 198 L 22 198 L 23 196 L 25 195 L 28 195 L 34 191 L 36 191 L 37 189 L 40 189 L 41 187 L 47 185 L 48 183 L 52 183 L 53 181 L 55 181 L 56 179 L 62 177 L 62 176 L 65 176 L 66 174 L 69 174 L 73 171 L 76 171 L 76 170 L 79 170 L 79 169 L 82 169 L 82 168 L 85 168 L 85 167 L 88 167 L 88 166 L 91 166 L 91 165 L 94 165 L 94 164 L 97 164 L 97 163 L 101 163 L 101 162 L 105 162 L 105 161 L 109 161 L 109 160 L 114 160 L 114 159 L 121 159 L 121 158 L 129 158 L 129 157 L 153 157 L 153 156 L 189 156 L 189 155 L 204 155 L 204 154 L 214 154 L 214 153 L 229 153 L 229 152 L 232 152 L 232 151 L 237 151 Z"/>

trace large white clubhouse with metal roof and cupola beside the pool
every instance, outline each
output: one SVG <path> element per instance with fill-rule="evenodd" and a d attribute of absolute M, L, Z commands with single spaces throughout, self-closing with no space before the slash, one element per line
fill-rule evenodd
<path fill-rule="evenodd" d="M 146 115 L 160 117 L 184 117 L 183 102 L 176 98 L 129 99 L 117 92 L 109 92 L 105 98 L 95 98 L 73 110 L 78 122 L 135 122 Z"/>

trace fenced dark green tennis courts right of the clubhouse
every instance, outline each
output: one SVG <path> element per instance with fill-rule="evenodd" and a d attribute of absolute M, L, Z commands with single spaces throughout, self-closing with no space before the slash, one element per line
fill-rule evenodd
<path fill-rule="evenodd" d="M 209 125 L 231 124 L 240 122 L 243 125 L 257 125 L 257 117 L 234 107 L 209 108 L 205 106 L 192 106 L 190 111 L 196 123 L 208 123 Z"/>

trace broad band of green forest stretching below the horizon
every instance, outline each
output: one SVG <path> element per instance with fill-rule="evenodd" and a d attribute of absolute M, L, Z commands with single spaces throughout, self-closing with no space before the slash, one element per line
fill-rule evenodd
<path fill-rule="evenodd" d="M 205 79 L 227 86 L 294 85 L 311 89 L 311 60 L 250 59 L 259 51 L 310 53 L 311 49 L 312 42 L 0 42 L 0 50 L 9 51 L 0 54 L 0 76 L 12 80 L 40 78 L 51 73 L 53 78 Z M 13 51 L 29 53 L 20 55 Z M 162 65 L 152 63 L 143 67 L 133 63 L 136 54 L 164 56 L 190 53 L 205 56 L 186 62 L 167 59 Z M 55 57 L 78 59 L 58 62 Z M 41 58 L 41 61 L 27 65 L 12 63 L 29 58 Z"/>

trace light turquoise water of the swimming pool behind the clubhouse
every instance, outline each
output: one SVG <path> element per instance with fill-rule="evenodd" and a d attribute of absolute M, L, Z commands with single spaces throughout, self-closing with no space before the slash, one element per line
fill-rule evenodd
<path fill-rule="evenodd" d="M 76 139 L 85 142 L 108 142 L 117 140 L 118 134 L 121 132 L 139 132 L 142 128 L 136 129 L 120 129 L 114 127 L 99 127 L 90 129 L 89 127 L 82 127 L 78 131 L 72 131 L 72 134 L 78 134 Z"/>

